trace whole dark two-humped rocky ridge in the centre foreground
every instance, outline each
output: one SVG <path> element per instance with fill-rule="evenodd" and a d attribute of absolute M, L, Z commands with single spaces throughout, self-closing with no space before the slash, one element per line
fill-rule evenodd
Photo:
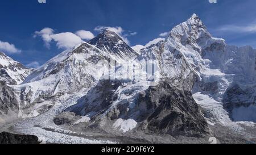
<path fill-rule="evenodd" d="M 128 85 L 128 86 L 127 86 Z M 78 104 L 69 107 L 57 116 L 56 124 L 71 125 L 76 114 L 87 116 L 86 126 L 106 129 L 112 124 L 112 130 L 120 128 L 127 132 L 133 128 L 157 134 L 170 134 L 172 136 L 203 136 L 209 133 L 208 124 L 205 122 L 192 94 L 189 91 L 179 90 L 164 79 L 156 86 L 133 94 L 127 87 L 132 83 L 122 81 L 100 81 L 96 87 L 79 100 Z M 133 103 L 129 99 L 120 99 L 118 90 L 125 93 L 126 97 L 133 96 Z M 69 112 L 69 113 L 68 113 Z M 69 119 L 68 119 L 69 118 Z M 79 119 L 77 119 L 79 120 Z M 119 127 L 120 120 L 127 125 L 134 125 L 129 129 Z M 73 122 L 74 123 L 74 122 Z M 106 130 L 108 131 L 108 130 Z"/>

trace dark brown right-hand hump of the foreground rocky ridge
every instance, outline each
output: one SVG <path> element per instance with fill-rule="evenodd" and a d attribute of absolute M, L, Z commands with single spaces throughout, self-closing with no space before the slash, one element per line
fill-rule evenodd
<path fill-rule="evenodd" d="M 191 92 L 176 89 L 168 81 L 150 86 L 145 94 L 141 94 L 138 108 L 152 133 L 172 136 L 202 136 L 208 133 L 208 124 Z"/>

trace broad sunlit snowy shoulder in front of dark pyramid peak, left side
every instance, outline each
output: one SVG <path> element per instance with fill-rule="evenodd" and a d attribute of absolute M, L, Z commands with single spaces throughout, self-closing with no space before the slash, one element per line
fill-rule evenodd
<path fill-rule="evenodd" d="M 88 43 L 68 49 L 36 69 L 21 85 L 15 87 L 21 92 L 23 100 L 20 102 L 24 105 L 43 102 L 66 93 L 89 89 L 101 77 L 108 76 L 106 70 L 110 57 Z"/>

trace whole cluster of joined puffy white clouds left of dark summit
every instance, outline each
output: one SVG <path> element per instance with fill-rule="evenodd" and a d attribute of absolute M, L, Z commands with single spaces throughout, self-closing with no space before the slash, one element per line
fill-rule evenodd
<path fill-rule="evenodd" d="M 41 31 L 36 31 L 34 37 L 36 36 L 42 37 L 47 48 L 50 48 L 50 43 L 54 40 L 57 47 L 62 49 L 75 47 L 77 44 L 82 43 L 82 39 L 89 40 L 94 37 L 90 31 L 79 30 L 76 34 L 72 32 L 54 33 L 54 30 L 48 27 L 43 28 Z"/>

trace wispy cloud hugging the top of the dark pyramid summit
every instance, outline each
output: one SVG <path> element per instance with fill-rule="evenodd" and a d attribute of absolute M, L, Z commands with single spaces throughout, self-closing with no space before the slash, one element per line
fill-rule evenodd
<path fill-rule="evenodd" d="M 126 44 L 130 44 L 130 41 L 127 38 L 128 36 L 137 35 L 137 32 L 125 33 L 122 27 L 97 26 L 96 28 L 94 28 L 94 31 L 101 32 L 106 29 L 117 33 L 123 39 L 123 41 L 125 41 Z"/>

